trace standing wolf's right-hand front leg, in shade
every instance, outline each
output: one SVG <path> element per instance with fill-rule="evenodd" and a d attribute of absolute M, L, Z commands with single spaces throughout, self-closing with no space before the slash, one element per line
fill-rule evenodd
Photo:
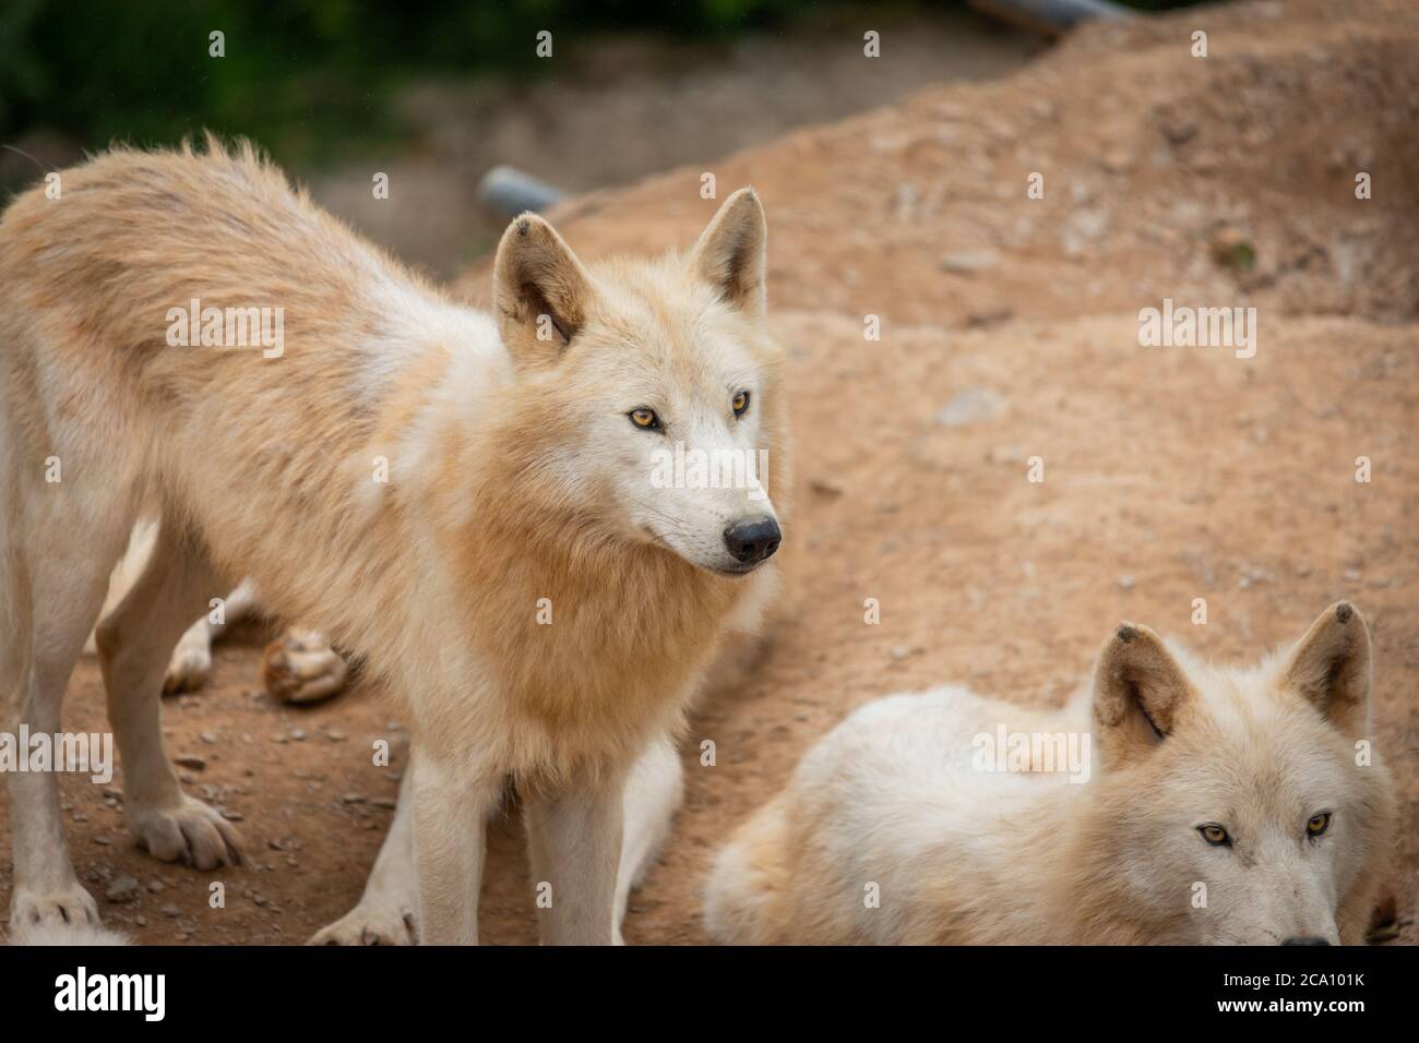
<path fill-rule="evenodd" d="M 532 885 L 545 945 L 612 945 L 624 775 L 569 780 L 524 798 Z"/>

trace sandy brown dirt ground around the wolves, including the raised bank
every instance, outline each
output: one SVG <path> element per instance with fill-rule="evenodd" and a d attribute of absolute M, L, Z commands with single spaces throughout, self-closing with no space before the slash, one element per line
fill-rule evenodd
<path fill-rule="evenodd" d="M 1195 28 L 1208 58 L 1189 54 Z M 769 210 L 792 349 L 793 590 L 753 673 L 701 700 L 687 802 L 627 941 L 707 941 L 712 853 L 867 700 L 964 681 L 1053 705 L 1120 619 L 1250 660 L 1338 597 L 1375 637 L 1375 742 L 1401 790 L 1399 941 L 1416 941 L 1416 45 L 1402 0 L 1097 26 L 1010 78 L 708 167 L 721 194 L 753 183 Z M 1026 196 L 1036 172 L 1044 199 Z M 700 167 L 673 170 L 585 197 L 561 224 L 587 255 L 688 243 L 714 207 L 698 189 Z M 458 291 L 484 299 L 485 275 Z M 1139 346 L 1138 309 L 1164 298 L 1256 307 L 1254 358 Z M 864 339 L 867 315 L 880 341 Z M 1030 457 L 1043 482 L 1027 481 Z M 878 626 L 863 622 L 868 597 Z M 1206 626 L 1191 623 L 1196 597 Z M 250 639 L 165 717 L 189 788 L 237 819 L 244 867 L 159 866 L 123 836 L 118 782 L 65 779 L 79 876 L 139 941 L 299 942 L 358 900 L 390 820 L 404 762 L 390 702 L 277 707 Z M 92 661 L 67 727 L 102 727 Z M 380 738 L 396 741 L 390 768 L 370 766 Z M 484 890 L 491 942 L 535 941 L 521 844 L 509 809 Z M 136 897 L 105 901 L 125 876 Z M 207 907 L 213 880 L 224 910 Z"/>

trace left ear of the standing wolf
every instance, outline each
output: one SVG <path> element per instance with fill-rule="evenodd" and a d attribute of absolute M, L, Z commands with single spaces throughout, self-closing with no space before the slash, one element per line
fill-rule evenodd
<path fill-rule="evenodd" d="M 555 360 L 586 321 L 592 277 L 556 230 L 522 214 L 498 243 L 492 307 L 514 360 Z"/>

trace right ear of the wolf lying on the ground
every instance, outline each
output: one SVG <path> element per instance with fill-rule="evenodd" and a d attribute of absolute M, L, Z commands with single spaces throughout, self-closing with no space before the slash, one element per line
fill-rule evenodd
<path fill-rule="evenodd" d="M 1325 609 L 1291 651 L 1281 677 L 1341 732 L 1366 734 L 1374 667 L 1369 627 L 1359 609 L 1349 602 Z"/>

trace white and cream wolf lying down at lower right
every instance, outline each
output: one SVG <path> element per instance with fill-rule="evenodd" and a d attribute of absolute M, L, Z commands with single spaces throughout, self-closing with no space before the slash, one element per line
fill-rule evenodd
<path fill-rule="evenodd" d="M 1396 816 L 1378 755 L 1357 746 L 1372 736 L 1369 691 L 1369 634 L 1341 602 L 1250 670 L 1203 666 L 1124 624 L 1093 688 L 1060 712 L 964 688 L 870 702 L 719 854 L 710 932 L 739 944 L 1361 942 Z M 1090 735 L 1087 780 L 1033 758 L 982 771 L 1000 724 Z M 1311 837 L 1320 813 L 1328 827 Z M 1206 826 L 1226 843 L 1209 843 Z"/>

